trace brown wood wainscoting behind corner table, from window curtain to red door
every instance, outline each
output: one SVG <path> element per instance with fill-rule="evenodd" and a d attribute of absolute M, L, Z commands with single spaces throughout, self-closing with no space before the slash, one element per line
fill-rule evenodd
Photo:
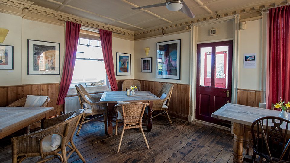
<path fill-rule="evenodd" d="M 122 89 L 123 81 L 124 80 L 117 80 L 117 86 L 119 91 L 121 91 Z M 165 82 L 156 82 L 147 80 L 139 80 L 139 81 L 141 83 L 142 91 L 150 91 L 155 95 L 165 84 Z M 177 83 L 172 84 L 174 86 L 168 107 L 169 115 L 182 120 L 188 120 L 190 85 Z"/>

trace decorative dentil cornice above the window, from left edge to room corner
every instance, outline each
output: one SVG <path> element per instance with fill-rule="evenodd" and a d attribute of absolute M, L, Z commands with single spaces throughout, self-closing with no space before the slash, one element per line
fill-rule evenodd
<path fill-rule="evenodd" d="M 111 25 L 105 25 L 103 23 L 97 22 L 97 21 L 92 21 L 86 18 L 81 18 L 75 15 L 71 14 L 66 14 L 63 12 L 59 11 L 54 11 L 48 8 L 43 8 L 37 5 L 33 5 L 33 2 L 28 3 L 29 1 L 25 0 L 0 0 L 0 4 L 6 5 L 9 7 L 18 7 L 22 8 L 23 13 L 31 13 L 31 14 L 37 14 L 37 15 L 42 15 L 45 17 L 49 18 L 55 18 L 55 19 L 62 19 L 65 21 L 72 21 L 75 23 L 79 23 L 82 25 L 90 26 L 90 27 L 95 27 L 99 29 L 104 29 L 104 30 L 110 30 L 112 32 L 116 32 L 119 34 L 123 34 L 127 37 L 133 37 L 134 32 L 130 30 L 124 30 L 118 27 L 114 27 Z M 25 17 L 25 16 L 24 16 Z"/>

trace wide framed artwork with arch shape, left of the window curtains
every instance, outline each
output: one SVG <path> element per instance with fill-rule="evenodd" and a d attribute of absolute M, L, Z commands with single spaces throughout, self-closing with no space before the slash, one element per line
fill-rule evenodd
<path fill-rule="evenodd" d="M 59 75 L 60 43 L 27 40 L 27 75 Z"/>

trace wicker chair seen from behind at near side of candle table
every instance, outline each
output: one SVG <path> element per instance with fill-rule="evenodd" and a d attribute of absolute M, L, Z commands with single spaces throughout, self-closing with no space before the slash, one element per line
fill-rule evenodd
<path fill-rule="evenodd" d="M 119 150 L 120 150 L 122 138 L 124 135 L 124 130 L 131 129 L 131 128 L 139 128 L 139 130 L 141 130 L 145 143 L 147 145 L 147 148 L 149 149 L 149 145 L 147 143 L 147 140 L 146 140 L 143 128 L 142 128 L 142 117 L 144 114 L 145 107 L 148 105 L 149 105 L 148 103 L 130 103 L 130 104 L 118 104 L 115 106 L 116 113 L 118 114 L 118 112 L 120 112 L 122 115 L 122 120 L 116 118 L 115 135 L 117 135 L 118 122 L 123 121 L 123 125 L 124 125 L 117 153 L 119 153 Z"/>

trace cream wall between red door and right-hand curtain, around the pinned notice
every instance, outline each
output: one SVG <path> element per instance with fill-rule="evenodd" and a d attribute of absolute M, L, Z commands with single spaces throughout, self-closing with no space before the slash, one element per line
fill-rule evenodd
<path fill-rule="evenodd" d="M 238 88 L 261 90 L 261 29 L 262 20 L 247 21 L 246 29 L 240 30 L 238 58 Z M 243 56 L 247 53 L 257 53 L 257 68 L 244 68 Z M 265 54 L 266 55 L 266 54 Z M 266 64 L 266 63 L 265 63 Z"/>

